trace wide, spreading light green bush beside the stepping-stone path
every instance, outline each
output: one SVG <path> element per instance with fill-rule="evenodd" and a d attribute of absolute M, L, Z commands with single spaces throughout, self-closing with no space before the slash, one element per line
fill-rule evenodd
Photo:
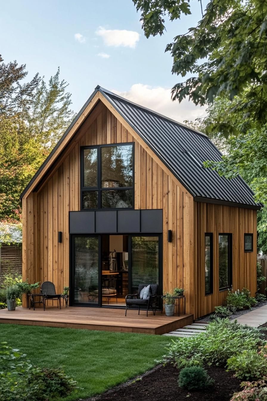
<path fill-rule="evenodd" d="M 264 346 L 263 334 L 257 329 L 242 326 L 237 321 L 217 320 L 207 326 L 205 332 L 189 338 L 173 340 L 167 355 L 161 362 L 175 363 L 179 369 L 191 365 L 219 365 L 244 350 L 257 350 Z"/>

